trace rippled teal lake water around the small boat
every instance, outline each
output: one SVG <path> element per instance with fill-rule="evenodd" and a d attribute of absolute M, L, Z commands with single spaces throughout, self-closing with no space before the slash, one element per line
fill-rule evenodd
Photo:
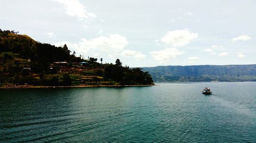
<path fill-rule="evenodd" d="M 255 142 L 256 82 L 157 84 L 0 90 L 0 142 Z"/>

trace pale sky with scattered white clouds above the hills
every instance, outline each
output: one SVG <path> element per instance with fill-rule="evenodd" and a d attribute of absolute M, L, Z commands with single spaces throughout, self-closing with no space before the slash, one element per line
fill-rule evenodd
<path fill-rule="evenodd" d="M 256 64 L 256 1 L 0 0 L 0 28 L 103 63 Z M 99 60 L 98 60 L 99 62 Z"/>

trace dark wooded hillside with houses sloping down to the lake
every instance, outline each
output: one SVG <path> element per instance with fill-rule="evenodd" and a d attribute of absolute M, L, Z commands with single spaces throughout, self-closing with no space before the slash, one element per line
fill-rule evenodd
<path fill-rule="evenodd" d="M 76 56 L 63 47 L 40 43 L 27 35 L 0 29 L 0 88 L 16 85 L 148 85 L 151 75 L 140 68 L 103 64 L 103 59 Z"/>

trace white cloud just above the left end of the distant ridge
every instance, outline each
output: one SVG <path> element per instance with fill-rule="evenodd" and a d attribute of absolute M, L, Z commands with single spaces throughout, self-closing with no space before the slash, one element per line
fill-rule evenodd
<path fill-rule="evenodd" d="M 183 51 L 179 51 L 176 48 L 166 48 L 164 50 L 150 52 L 151 56 L 155 60 L 160 61 L 160 63 L 165 63 L 169 59 L 175 58 L 177 55 L 181 55 L 183 53 Z"/>

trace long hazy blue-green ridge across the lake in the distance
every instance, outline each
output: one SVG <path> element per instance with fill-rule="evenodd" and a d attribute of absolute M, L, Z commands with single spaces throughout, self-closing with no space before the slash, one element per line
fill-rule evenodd
<path fill-rule="evenodd" d="M 154 81 L 256 81 L 256 65 L 144 67 Z"/>

